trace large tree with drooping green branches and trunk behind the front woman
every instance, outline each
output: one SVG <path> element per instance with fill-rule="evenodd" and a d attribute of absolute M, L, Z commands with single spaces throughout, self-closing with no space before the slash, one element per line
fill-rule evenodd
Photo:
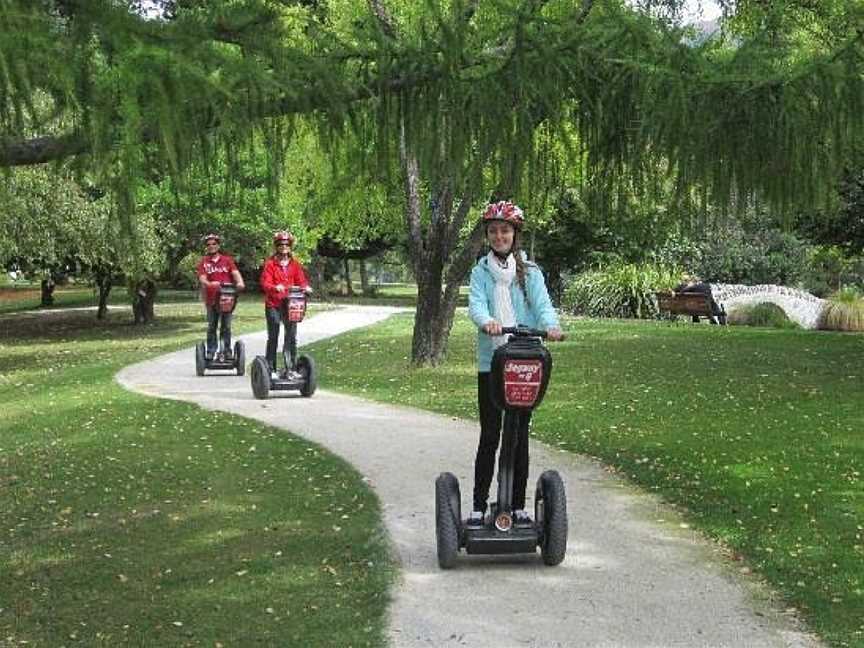
<path fill-rule="evenodd" d="M 680 0 L 175 0 L 166 19 L 130 4 L 0 0 L 0 165 L 77 156 L 131 213 L 145 160 L 182 175 L 256 133 L 278 178 L 298 116 L 322 142 L 350 132 L 401 169 L 415 361 L 446 348 L 476 208 L 530 195 L 539 127 L 609 196 L 671 178 L 706 200 L 775 205 L 826 200 L 862 132 L 851 0 L 828 3 L 831 38 L 724 0 L 735 38 L 701 45 L 639 8 Z"/>

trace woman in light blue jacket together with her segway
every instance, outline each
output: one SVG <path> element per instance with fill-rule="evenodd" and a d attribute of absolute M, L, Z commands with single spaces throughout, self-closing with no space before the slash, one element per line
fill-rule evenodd
<path fill-rule="evenodd" d="M 528 426 L 552 371 L 552 357 L 542 339 L 563 336 L 543 275 L 522 256 L 523 220 L 522 210 L 510 202 L 491 204 L 483 213 L 491 251 L 471 273 L 468 301 L 478 329 L 480 443 L 474 464 L 474 510 L 463 523 L 459 480 L 442 472 L 435 480 L 435 535 L 443 569 L 454 566 L 462 548 L 468 554 L 517 554 L 534 553 L 539 547 L 543 562 L 550 566 L 560 564 L 567 551 L 567 499 L 555 470 L 543 472 L 537 481 L 536 520 L 525 511 Z M 497 497 L 487 517 L 496 453 Z"/>

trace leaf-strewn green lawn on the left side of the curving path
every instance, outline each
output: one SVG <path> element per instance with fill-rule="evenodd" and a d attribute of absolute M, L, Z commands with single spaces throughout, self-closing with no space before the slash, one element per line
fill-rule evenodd
<path fill-rule="evenodd" d="M 198 304 L 157 314 L 0 319 L 0 645 L 382 645 L 377 499 L 311 443 L 117 385 L 203 336 Z"/>

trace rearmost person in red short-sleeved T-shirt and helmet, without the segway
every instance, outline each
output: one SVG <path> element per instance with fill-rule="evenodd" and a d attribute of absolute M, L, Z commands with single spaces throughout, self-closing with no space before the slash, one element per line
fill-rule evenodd
<path fill-rule="evenodd" d="M 198 282 L 201 284 L 201 296 L 207 308 L 207 358 L 212 359 L 217 353 L 230 358 L 231 313 L 223 313 L 219 308 L 219 288 L 223 283 L 234 284 L 237 290 L 243 290 L 246 286 L 234 259 L 219 251 L 221 237 L 218 234 L 207 234 L 202 240 L 206 251 L 198 262 Z M 221 352 L 216 338 L 217 327 L 221 329 Z"/>

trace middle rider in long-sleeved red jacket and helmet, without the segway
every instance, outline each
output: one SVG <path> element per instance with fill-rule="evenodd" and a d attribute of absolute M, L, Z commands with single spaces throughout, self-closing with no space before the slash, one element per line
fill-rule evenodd
<path fill-rule="evenodd" d="M 279 325 L 285 325 L 285 346 L 288 349 L 289 371 L 294 370 L 297 359 L 297 323 L 289 322 L 282 309 L 282 300 L 291 288 L 302 288 L 311 293 L 303 266 L 293 258 L 295 238 L 291 232 L 276 232 L 273 235 L 275 254 L 264 263 L 261 271 L 261 289 L 264 291 L 264 312 L 267 317 L 267 362 L 270 371 L 276 370 L 276 349 L 279 346 Z"/>

